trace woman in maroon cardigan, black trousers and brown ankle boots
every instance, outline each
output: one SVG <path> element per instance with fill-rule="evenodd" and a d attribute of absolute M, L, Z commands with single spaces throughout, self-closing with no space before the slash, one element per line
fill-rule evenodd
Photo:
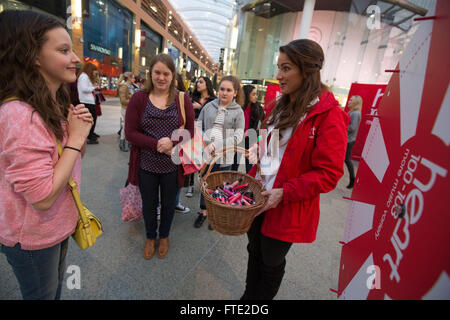
<path fill-rule="evenodd" d="M 147 240 L 144 258 L 155 253 L 159 232 L 158 257 L 169 251 L 169 232 L 176 206 L 178 188 L 183 186 L 181 165 L 172 161 L 174 146 L 182 138 L 172 139 L 180 128 L 194 135 L 194 109 L 184 95 L 184 121 L 178 91 L 175 89 L 175 65 L 167 54 L 159 54 L 150 61 L 150 79 L 142 91 L 136 92 L 127 107 L 125 137 L 131 143 L 128 181 L 139 186 L 142 196 Z M 183 136 L 175 134 L 175 136 Z M 158 229 L 157 207 L 161 193 L 161 221 Z"/>

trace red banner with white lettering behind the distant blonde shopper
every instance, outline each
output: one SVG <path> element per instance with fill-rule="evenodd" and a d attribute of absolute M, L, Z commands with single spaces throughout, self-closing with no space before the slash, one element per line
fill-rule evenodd
<path fill-rule="evenodd" d="M 383 97 L 385 84 L 362 84 L 353 83 L 348 94 L 347 105 L 345 111 L 349 111 L 348 101 L 352 96 L 360 96 L 362 98 L 361 123 L 356 136 L 355 144 L 352 148 L 352 159 L 359 160 L 361 152 L 366 142 L 367 134 L 374 116 L 378 115 L 378 106 Z"/>

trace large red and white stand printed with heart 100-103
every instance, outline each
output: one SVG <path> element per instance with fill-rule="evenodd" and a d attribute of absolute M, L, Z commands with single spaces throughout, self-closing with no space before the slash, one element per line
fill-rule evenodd
<path fill-rule="evenodd" d="M 450 1 L 428 16 L 391 70 L 362 151 L 340 299 L 450 299 Z"/>

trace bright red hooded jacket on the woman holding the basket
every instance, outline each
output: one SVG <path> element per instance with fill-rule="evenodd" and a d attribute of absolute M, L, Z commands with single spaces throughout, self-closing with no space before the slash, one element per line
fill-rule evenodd
<path fill-rule="evenodd" d="M 270 238 L 313 242 L 319 225 L 320 193 L 336 187 L 344 174 L 348 115 L 325 91 L 291 136 L 273 189 L 283 200 L 266 212 L 261 232 Z M 269 115 L 273 107 L 267 110 Z M 249 173 L 256 174 L 256 166 Z"/>

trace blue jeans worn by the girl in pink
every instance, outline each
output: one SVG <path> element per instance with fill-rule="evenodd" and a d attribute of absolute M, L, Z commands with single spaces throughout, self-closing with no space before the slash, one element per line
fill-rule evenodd
<path fill-rule="evenodd" d="M 68 239 L 41 250 L 1 245 L 24 300 L 59 300 L 64 279 Z"/>

